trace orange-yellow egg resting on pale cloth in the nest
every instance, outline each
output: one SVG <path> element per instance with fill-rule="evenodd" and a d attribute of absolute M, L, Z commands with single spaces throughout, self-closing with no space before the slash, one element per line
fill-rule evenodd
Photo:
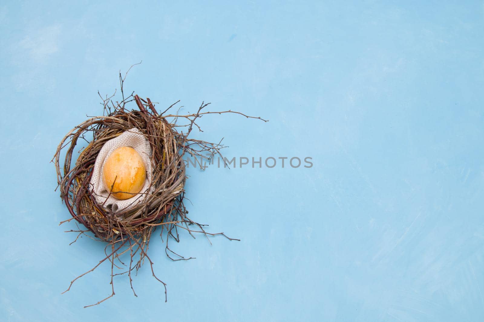
<path fill-rule="evenodd" d="M 145 179 L 146 168 L 143 159 L 135 149 L 128 146 L 114 150 L 104 164 L 104 185 L 115 198 L 125 200 L 136 196 L 134 194 L 141 191 Z"/>

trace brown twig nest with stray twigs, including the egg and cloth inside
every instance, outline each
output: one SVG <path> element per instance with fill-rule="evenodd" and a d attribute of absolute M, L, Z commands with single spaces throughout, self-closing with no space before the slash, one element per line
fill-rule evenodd
<path fill-rule="evenodd" d="M 183 155 L 188 154 L 191 157 L 209 160 L 210 157 L 207 155 L 222 156 L 220 149 L 224 146 L 220 142 L 210 143 L 188 137 L 193 128 L 200 130 L 195 121 L 202 115 L 237 113 L 247 118 L 262 120 L 260 117 L 252 117 L 230 110 L 201 112 L 209 105 L 203 102 L 197 113 L 164 115 L 178 103 L 176 102 L 165 112 L 159 114 L 149 98 L 144 100 L 133 95 L 134 93 L 124 97 L 123 82 L 124 78 L 121 78 L 120 74 L 121 102 L 114 101 L 112 97 L 103 99 L 105 115 L 92 117 L 74 127 L 61 140 L 52 160 L 56 167 L 61 198 L 72 216 L 71 219 L 64 222 L 76 220 L 78 224 L 85 227 L 79 227 L 76 223 L 78 230 L 70 231 L 78 233 L 77 238 L 91 232 L 95 239 L 107 242 L 105 253 L 102 255 L 105 257 L 99 263 L 106 260 L 111 262 L 112 294 L 92 305 L 100 304 L 114 295 L 113 277 L 115 275 L 126 274 L 129 277 L 133 293 L 136 295 L 131 274 L 134 269 L 137 271 L 141 267 L 144 259 L 147 259 L 150 264 L 153 277 L 165 286 L 166 301 L 166 284 L 154 274 L 153 262 L 147 254 L 151 234 L 157 227 L 161 228 L 160 235 L 166 237 L 164 241 L 166 256 L 174 261 L 192 258 L 183 257 L 168 246 L 169 239 L 180 241 L 179 232 L 181 230 L 186 230 L 192 237 L 195 233 L 201 233 L 207 238 L 221 235 L 234 240 L 224 233 L 206 232 L 204 228 L 206 225 L 198 224 L 187 217 L 188 211 L 183 204 L 186 180 Z M 126 103 L 133 100 L 136 101 L 139 110 L 126 110 Z M 168 122 L 166 118 L 173 118 L 174 121 Z M 183 119 L 185 124 L 176 125 L 177 119 Z M 267 120 L 263 121 L 267 122 Z M 184 133 L 183 131 L 178 132 L 177 128 L 184 129 Z M 92 140 L 89 141 L 87 138 L 91 135 Z M 122 139 L 123 142 L 125 139 L 131 140 L 131 146 L 135 147 L 134 149 L 129 147 L 130 144 L 124 144 L 121 147 L 110 146 L 107 150 L 111 154 L 105 156 L 107 159 L 102 171 L 104 183 L 101 189 L 106 188 L 110 195 L 118 198 L 120 203 L 129 202 L 129 206 L 123 205 L 125 207 L 119 208 L 114 207 L 115 204 L 109 207 L 107 203 L 109 198 L 100 196 L 99 193 L 103 193 L 103 191 L 94 189 L 94 184 L 91 182 L 93 173 L 96 177 L 101 176 L 101 158 L 98 158 L 98 155 L 106 152 L 106 149 L 102 151 L 105 144 L 108 147 L 109 142 L 116 139 L 120 139 L 119 141 Z M 75 155 L 74 152 L 78 150 L 76 145 L 78 141 L 82 140 L 86 140 L 88 145 L 81 148 L 76 164 L 72 167 L 71 161 Z M 136 145 L 135 142 L 138 142 L 139 145 Z M 65 155 L 63 155 L 64 148 L 67 148 Z M 139 151 L 148 151 L 148 153 L 140 155 Z M 200 165 L 200 167 L 202 166 Z M 95 182 L 100 181 L 95 180 Z M 132 199 L 136 199 L 136 203 L 131 203 Z M 128 254 L 130 260 L 126 263 L 122 262 L 120 260 L 122 254 Z M 118 262 L 123 267 L 118 266 L 116 264 Z M 116 273 L 115 269 L 123 271 Z M 86 273 L 72 280 L 65 292 L 69 291 L 72 284 Z"/>

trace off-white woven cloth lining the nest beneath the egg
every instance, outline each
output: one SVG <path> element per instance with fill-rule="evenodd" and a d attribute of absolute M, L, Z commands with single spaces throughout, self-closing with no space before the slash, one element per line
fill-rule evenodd
<path fill-rule="evenodd" d="M 96 157 L 96 162 L 94 163 L 94 169 L 91 177 L 91 191 L 92 195 L 99 204 L 104 203 L 104 207 L 112 210 L 113 212 L 121 210 L 129 210 L 135 207 L 139 202 L 141 202 L 146 195 L 134 195 L 133 197 L 120 200 L 113 196 L 109 196 L 109 188 L 105 187 L 103 180 L 103 168 L 108 156 L 117 148 L 123 146 L 129 146 L 136 150 L 136 152 L 141 156 L 146 168 L 146 181 L 145 185 L 141 189 L 140 193 L 152 192 L 149 191 L 151 183 L 151 147 L 148 140 L 141 132 L 133 127 L 130 130 L 124 131 L 120 136 L 111 139 L 104 143 L 101 151 L 99 151 Z M 107 200 L 106 200 L 107 198 Z"/>

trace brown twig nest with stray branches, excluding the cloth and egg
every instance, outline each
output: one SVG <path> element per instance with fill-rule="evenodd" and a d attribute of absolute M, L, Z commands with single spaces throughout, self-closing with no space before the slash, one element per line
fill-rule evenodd
<path fill-rule="evenodd" d="M 247 118 L 262 120 L 260 117 L 252 117 L 230 110 L 205 112 L 204 108 L 210 103 L 203 102 L 196 113 L 169 114 L 168 111 L 179 101 L 159 113 L 150 98 L 140 98 L 138 95 L 134 95 L 134 92 L 130 96 L 124 97 L 125 77 L 126 75 L 123 78 L 120 74 L 121 101 L 115 101 L 114 95 L 109 98 L 101 98 L 104 106 L 103 116 L 91 117 L 69 131 L 61 140 L 52 159 L 56 167 L 62 201 L 72 216 L 61 224 L 73 220 L 76 222 L 77 229 L 67 231 L 77 233 L 73 242 L 82 236 L 106 242 L 102 260 L 89 271 L 72 280 L 69 288 L 64 291 L 64 293 L 69 291 L 77 279 L 93 271 L 103 262 L 110 262 L 111 294 L 86 307 L 98 305 L 115 294 L 113 278 L 117 275 L 129 277 L 133 293 L 137 296 L 133 288 L 132 273 L 137 272 L 144 260 L 150 264 L 153 277 L 163 284 L 166 301 L 166 283 L 155 275 L 153 262 L 148 255 L 148 244 L 157 228 L 161 229 L 160 236 L 165 244 L 166 256 L 173 261 L 191 259 L 191 257 L 185 258 L 177 254 L 169 247 L 170 239 L 180 241 L 180 230 L 186 230 L 194 238 L 194 234 L 199 233 L 206 237 L 222 235 L 229 240 L 239 240 L 229 238 L 224 233 L 209 233 L 205 230 L 206 225 L 198 224 L 187 216 L 188 211 L 183 204 L 186 180 L 183 157 L 190 156 L 200 162 L 198 160 L 210 161 L 217 154 L 222 156 L 220 150 L 224 146 L 221 142 L 211 143 L 189 138 L 193 129 L 201 131 L 197 119 L 204 115 L 237 113 Z M 128 110 L 126 105 L 129 103 L 136 104 L 137 110 Z M 178 125 L 177 120 L 181 119 L 185 122 Z M 267 122 L 267 120 L 263 121 Z M 90 180 L 94 163 L 106 141 L 116 138 L 134 127 L 145 136 L 151 146 L 151 189 L 139 203 L 129 210 L 113 211 L 105 207 L 103 203 L 96 202 L 93 195 Z M 75 165 L 71 166 L 78 141 L 86 141 L 88 144 L 79 151 Z M 203 168 L 201 163 L 199 165 Z M 125 257 L 122 256 L 123 254 L 129 258 L 128 261 L 123 261 L 123 257 Z"/>

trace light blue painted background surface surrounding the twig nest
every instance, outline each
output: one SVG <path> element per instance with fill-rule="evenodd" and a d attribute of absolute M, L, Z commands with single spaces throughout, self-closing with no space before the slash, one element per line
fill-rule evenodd
<path fill-rule="evenodd" d="M 482 1 L 70 2 L 0 4 L 0 320 L 484 321 Z M 145 265 L 84 309 L 110 266 L 61 295 L 103 250 L 49 161 L 140 60 L 158 106 L 271 120 L 204 117 L 227 156 L 314 166 L 190 169 L 192 218 L 242 241 L 155 235 L 168 302 Z"/>

